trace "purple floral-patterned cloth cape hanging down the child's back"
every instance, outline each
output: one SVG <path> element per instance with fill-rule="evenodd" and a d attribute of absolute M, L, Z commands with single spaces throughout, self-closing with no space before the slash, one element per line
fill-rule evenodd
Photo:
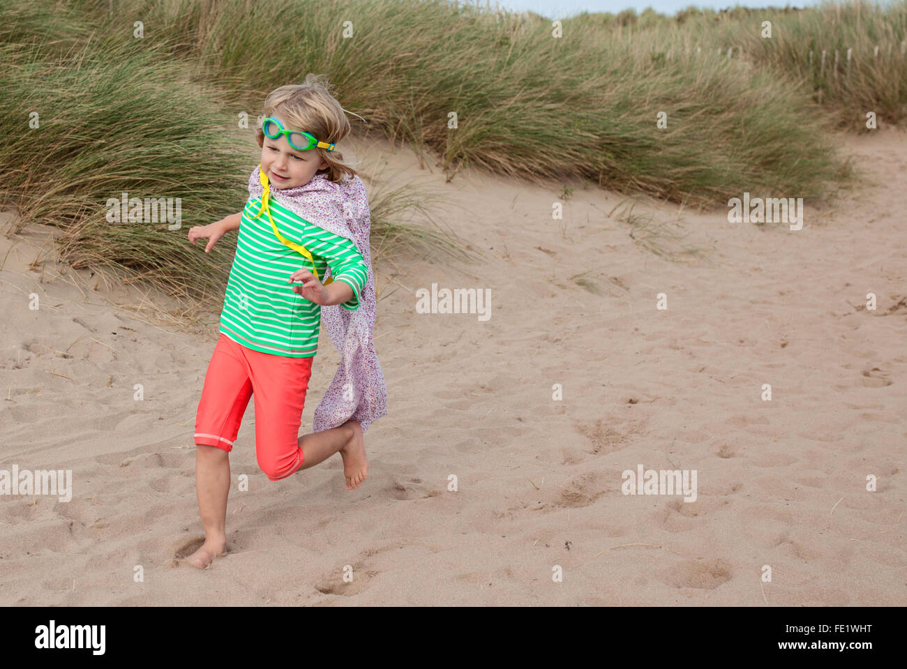
<path fill-rule="evenodd" d="M 261 165 L 249 177 L 249 195 L 253 198 L 261 197 L 264 191 L 259 170 Z M 326 175 L 316 174 L 307 184 L 292 189 L 276 189 L 271 184 L 269 197 L 318 228 L 351 240 L 366 261 L 368 277 L 356 309 L 351 311 L 341 305 L 321 307 L 327 335 L 342 359 L 315 410 L 312 425 L 312 431 L 320 432 L 354 420 L 362 424 L 365 433 L 372 422 L 387 415 L 385 375 L 372 342 L 375 273 L 368 241 L 372 220 L 366 185 L 358 176 L 346 175 L 343 183 L 334 183 Z M 306 258 L 299 256 L 299 259 L 305 261 L 300 267 L 308 265 Z M 330 267 L 321 276 L 322 282 L 327 276 L 331 276 Z"/>

